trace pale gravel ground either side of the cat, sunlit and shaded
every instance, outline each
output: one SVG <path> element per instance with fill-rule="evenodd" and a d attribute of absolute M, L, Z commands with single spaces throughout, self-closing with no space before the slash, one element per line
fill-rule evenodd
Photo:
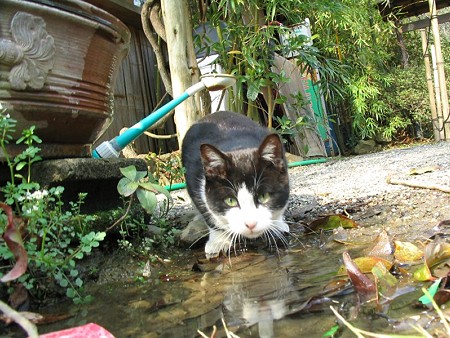
<path fill-rule="evenodd" d="M 425 172 L 412 175 L 415 169 Z M 330 158 L 325 163 L 291 168 L 286 211 L 291 230 L 321 216 L 344 214 L 364 228 L 370 227 L 370 233 L 381 227 L 411 240 L 450 219 L 448 192 L 390 184 L 388 177 L 450 189 L 450 142 Z M 184 190 L 172 194 L 175 207 L 171 216 L 186 224 L 193 217 L 189 197 Z"/>

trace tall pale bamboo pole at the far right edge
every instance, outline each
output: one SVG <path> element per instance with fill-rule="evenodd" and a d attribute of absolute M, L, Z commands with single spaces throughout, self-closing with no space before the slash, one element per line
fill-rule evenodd
<path fill-rule="evenodd" d="M 436 52 L 436 67 L 438 72 L 439 88 L 442 99 L 444 139 L 450 140 L 448 94 L 447 94 L 447 85 L 445 83 L 444 59 L 442 57 L 442 50 L 441 50 L 439 22 L 436 14 L 436 2 L 435 0 L 428 0 L 428 3 L 430 5 L 431 28 L 433 31 L 434 48 Z"/>

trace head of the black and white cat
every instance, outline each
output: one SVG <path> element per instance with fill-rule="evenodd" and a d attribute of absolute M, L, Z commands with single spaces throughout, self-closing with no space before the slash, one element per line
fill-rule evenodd
<path fill-rule="evenodd" d="M 205 203 L 216 228 L 247 238 L 289 231 L 282 220 L 289 177 L 277 134 L 266 136 L 259 148 L 222 152 L 203 144 L 200 153 Z"/>

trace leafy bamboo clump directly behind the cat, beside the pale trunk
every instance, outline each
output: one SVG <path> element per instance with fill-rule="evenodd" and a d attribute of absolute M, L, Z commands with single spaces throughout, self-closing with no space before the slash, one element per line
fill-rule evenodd
<path fill-rule="evenodd" d="M 256 109 L 264 110 L 268 117 L 267 125 L 272 127 L 275 106 L 285 100 L 277 89 L 291 81 L 283 71 L 274 70 L 276 54 L 295 52 L 293 62 L 299 65 L 302 72 L 319 69 L 324 75 L 321 88 L 331 88 L 343 95 L 343 88 L 333 86 L 337 79 L 342 82 L 345 78 L 341 62 L 309 43 L 320 39 L 320 35 L 309 38 L 290 34 L 289 28 L 289 25 L 304 22 L 308 11 L 333 11 L 334 6 L 331 1 L 315 1 L 311 4 L 295 0 L 220 0 L 207 6 L 206 12 L 201 14 L 216 29 L 218 40 L 205 45 L 205 37 L 199 36 L 195 41 L 196 47 L 216 52 L 218 58 L 215 62 L 222 66 L 224 72 L 237 77 L 235 90 L 229 92 L 232 110 L 244 112 L 255 119 Z M 202 23 L 204 16 L 194 18 L 194 22 L 197 19 Z M 286 35 L 290 35 L 289 43 L 280 39 Z M 262 93 L 264 102 L 261 102 Z"/>

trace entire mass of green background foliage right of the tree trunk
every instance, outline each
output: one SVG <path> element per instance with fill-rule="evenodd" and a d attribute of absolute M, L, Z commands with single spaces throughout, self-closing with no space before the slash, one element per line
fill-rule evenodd
<path fill-rule="evenodd" d="M 271 103 L 282 102 L 273 91 L 273 102 L 261 103 L 258 93 L 289 81 L 271 72 L 272 55 L 286 50 L 279 36 L 288 26 L 309 18 L 314 44 L 298 37 L 290 48 L 298 51 L 305 72 L 318 70 L 328 113 L 345 140 L 341 147 L 379 135 L 394 140 L 432 136 L 420 36 L 404 35 L 405 67 L 395 25 L 383 20 L 375 0 L 219 0 L 193 13 L 200 13 L 194 26 L 208 21 L 217 29 L 219 41 L 207 48 L 219 54 L 225 72 L 239 78 L 233 109 L 249 116 L 259 109 L 270 116 Z M 445 55 L 448 37 L 442 39 Z"/>

